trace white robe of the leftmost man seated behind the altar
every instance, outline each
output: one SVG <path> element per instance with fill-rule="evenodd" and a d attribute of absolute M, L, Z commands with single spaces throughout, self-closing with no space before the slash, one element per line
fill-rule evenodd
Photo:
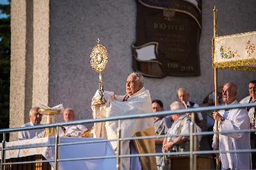
<path fill-rule="evenodd" d="M 29 122 L 29 123 L 26 123 L 24 125 L 22 125 L 21 127 L 29 127 L 29 126 L 34 126 L 32 124 L 32 122 Z M 26 139 L 32 139 L 32 138 L 35 138 L 36 137 L 36 132 L 38 132 L 38 134 L 40 134 L 41 132 L 43 132 L 45 129 L 34 129 L 34 130 L 30 130 L 30 131 L 19 131 L 18 133 L 18 140 L 26 140 Z M 41 133 L 43 134 L 43 133 Z M 40 137 L 42 137 L 40 135 Z"/>

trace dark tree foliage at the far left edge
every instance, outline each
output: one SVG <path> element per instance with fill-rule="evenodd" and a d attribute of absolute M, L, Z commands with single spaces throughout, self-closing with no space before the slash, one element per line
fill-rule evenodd
<path fill-rule="evenodd" d="M 10 110 L 10 1 L 0 4 L 0 13 L 7 15 L 0 18 L 0 129 L 9 127 Z"/>

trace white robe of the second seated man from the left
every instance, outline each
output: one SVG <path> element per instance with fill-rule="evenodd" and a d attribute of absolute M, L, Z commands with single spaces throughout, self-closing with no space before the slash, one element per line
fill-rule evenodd
<path fill-rule="evenodd" d="M 64 127 L 66 129 L 67 136 L 72 136 L 72 137 L 80 136 L 81 134 L 83 134 L 84 129 L 86 129 L 84 125 L 68 125 Z M 65 133 L 62 131 L 62 129 L 60 131 L 59 136 L 65 136 Z"/>

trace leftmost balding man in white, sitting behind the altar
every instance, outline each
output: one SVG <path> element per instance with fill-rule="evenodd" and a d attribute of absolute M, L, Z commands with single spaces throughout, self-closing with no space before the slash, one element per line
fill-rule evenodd
<path fill-rule="evenodd" d="M 40 125 L 40 122 L 42 120 L 42 114 L 38 112 L 39 108 L 31 108 L 29 111 L 29 119 L 30 122 L 27 124 L 22 125 L 21 127 L 29 127 L 29 126 L 34 126 L 34 125 Z M 32 139 L 35 138 L 36 132 L 40 134 L 43 132 L 44 129 L 35 129 L 35 130 L 30 130 L 30 131 L 19 131 L 18 133 L 18 140 L 25 140 L 25 139 Z"/>

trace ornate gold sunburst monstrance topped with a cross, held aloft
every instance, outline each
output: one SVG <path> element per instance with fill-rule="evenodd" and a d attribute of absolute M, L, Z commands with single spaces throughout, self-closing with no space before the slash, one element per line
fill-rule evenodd
<path fill-rule="evenodd" d="M 97 103 L 94 103 L 93 106 L 99 106 L 100 104 L 106 103 L 106 100 L 104 98 L 104 90 L 103 90 L 103 85 L 102 85 L 102 75 L 101 71 L 104 70 L 104 68 L 107 65 L 108 62 L 108 53 L 107 50 L 104 46 L 99 44 L 99 38 L 97 39 L 97 45 L 94 46 L 92 49 L 92 53 L 90 55 L 91 57 L 91 66 L 92 68 L 99 72 L 99 90 L 101 95 L 100 101 L 97 101 Z"/>

